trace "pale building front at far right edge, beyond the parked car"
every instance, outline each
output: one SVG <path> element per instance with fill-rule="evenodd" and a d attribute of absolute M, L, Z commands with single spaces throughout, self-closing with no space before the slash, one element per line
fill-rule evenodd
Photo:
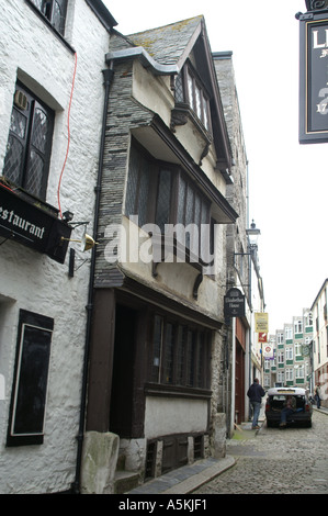
<path fill-rule="evenodd" d="M 313 390 L 319 385 L 321 391 L 321 405 L 328 407 L 328 315 L 327 315 L 327 290 L 326 279 L 320 288 L 313 305 L 312 314 L 314 322 L 313 335 Z"/>

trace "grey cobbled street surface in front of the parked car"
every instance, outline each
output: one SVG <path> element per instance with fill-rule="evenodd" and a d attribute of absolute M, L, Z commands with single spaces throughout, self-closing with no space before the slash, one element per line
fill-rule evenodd
<path fill-rule="evenodd" d="M 236 464 L 193 494 L 328 494 L 328 415 L 313 427 L 238 433 L 227 455 Z"/>

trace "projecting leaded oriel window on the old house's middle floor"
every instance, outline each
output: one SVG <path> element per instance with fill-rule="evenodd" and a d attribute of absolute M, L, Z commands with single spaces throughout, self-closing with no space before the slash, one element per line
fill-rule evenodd
<path fill-rule="evenodd" d="M 166 225 L 179 224 L 177 239 L 182 242 L 182 236 L 185 236 L 183 245 L 188 249 L 195 242 L 192 249 L 195 255 L 204 255 L 201 250 L 206 243 L 206 258 L 213 250 L 210 201 L 180 167 L 155 160 L 136 144 L 131 150 L 125 214 L 128 217 L 138 215 L 140 227 L 155 223 L 161 234 L 166 232 Z M 186 229 L 189 225 L 191 231 L 179 234 L 179 229 Z M 191 239 L 192 232 L 197 233 L 194 240 Z"/>

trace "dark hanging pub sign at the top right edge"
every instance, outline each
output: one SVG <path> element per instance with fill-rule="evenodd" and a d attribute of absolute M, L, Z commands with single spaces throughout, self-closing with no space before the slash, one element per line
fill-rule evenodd
<path fill-rule="evenodd" d="M 307 12 L 298 19 L 299 143 L 324 143 L 328 142 L 328 12 Z"/>

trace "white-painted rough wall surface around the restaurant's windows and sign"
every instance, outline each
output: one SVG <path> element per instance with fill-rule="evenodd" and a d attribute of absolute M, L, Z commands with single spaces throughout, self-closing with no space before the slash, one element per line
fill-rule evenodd
<path fill-rule="evenodd" d="M 70 113 L 70 148 L 63 176 L 60 203 L 75 221 L 90 221 L 92 234 L 94 184 L 103 108 L 104 54 L 109 34 L 84 0 L 69 2 L 67 41 L 77 53 Z M 57 207 L 57 186 L 67 149 L 67 114 L 75 55 L 33 12 L 25 0 L 1 3 L 0 16 L 0 173 L 10 125 L 16 79 L 56 111 L 47 202 Z M 83 227 L 72 232 L 82 235 Z M 0 238 L 0 244 L 2 238 Z M 77 257 L 90 258 L 71 243 Z M 80 261 L 77 262 L 77 266 Z M 75 478 L 86 304 L 90 260 L 68 278 L 66 262 L 13 242 L 0 249 L 0 492 L 45 493 L 70 487 Z M 5 448 L 13 380 L 19 311 L 55 321 L 48 377 L 44 444 Z"/>

